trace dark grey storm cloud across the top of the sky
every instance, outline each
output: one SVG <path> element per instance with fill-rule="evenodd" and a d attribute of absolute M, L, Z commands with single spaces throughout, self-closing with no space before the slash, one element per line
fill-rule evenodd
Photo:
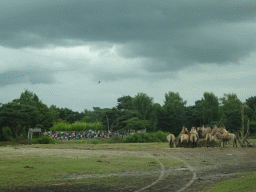
<path fill-rule="evenodd" d="M 255 4 L 234 0 L 4 1 L 0 45 L 103 49 L 117 44 L 122 57 L 148 59 L 144 68 L 150 72 L 177 71 L 195 63 L 239 62 L 255 46 Z M 69 38 L 77 41 L 68 43 Z"/>

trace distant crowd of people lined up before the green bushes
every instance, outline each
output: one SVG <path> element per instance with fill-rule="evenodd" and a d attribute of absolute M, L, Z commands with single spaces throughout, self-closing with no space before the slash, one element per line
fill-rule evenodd
<path fill-rule="evenodd" d="M 87 139 L 87 138 L 111 138 L 117 136 L 119 138 L 125 137 L 127 132 L 107 132 L 107 131 L 50 131 L 44 132 L 44 135 L 48 135 L 57 140 L 72 140 L 72 139 Z M 130 134 L 134 134 L 131 131 Z"/>

